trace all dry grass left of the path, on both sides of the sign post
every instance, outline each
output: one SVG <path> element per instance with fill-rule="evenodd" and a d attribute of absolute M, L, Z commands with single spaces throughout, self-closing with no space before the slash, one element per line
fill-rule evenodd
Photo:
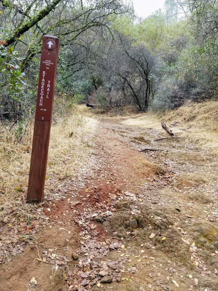
<path fill-rule="evenodd" d="M 58 199 L 55 188 L 57 190 L 60 184 L 64 188 L 67 181 L 79 175 L 79 166 L 86 162 L 90 152 L 89 133 L 95 123 L 77 110 L 72 110 L 68 116 L 56 120 L 51 128 L 45 187 L 47 199 Z M 20 239 L 20 223 L 37 221 L 43 224 L 47 223 L 47 217 L 43 213 L 43 203 L 31 205 L 25 201 L 33 127 L 28 127 L 20 142 L 17 142 L 17 129 L 9 129 L 10 125 L 0 126 L 0 226 L 3 233 L 0 247 L 5 243 L 4 247 L 12 251 L 11 243 L 15 245 L 23 240 L 23 234 Z M 37 211 L 40 208 L 42 211 Z M 6 246 L 7 242 L 10 242 L 9 246 Z"/>

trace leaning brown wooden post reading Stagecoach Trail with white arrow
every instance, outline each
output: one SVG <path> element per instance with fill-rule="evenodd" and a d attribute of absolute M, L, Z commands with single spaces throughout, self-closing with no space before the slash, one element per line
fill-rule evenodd
<path fill-rule="evenodd" d="M 41 202 L 44 196 L 58 54 L 59 39 L 53 35 L 44 35 L 39 71 L 27 202 Z"/>

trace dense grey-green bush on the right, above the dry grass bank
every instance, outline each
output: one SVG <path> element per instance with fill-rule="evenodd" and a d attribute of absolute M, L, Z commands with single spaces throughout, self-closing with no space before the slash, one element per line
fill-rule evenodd
<path fill-rule="evenodd" d="M 175 65 L 166 65 L 151 103 L 152 110 L 165 111 L 186 100 L 201 101 L 218 96 L 218 45 L 190 46 Z"/>

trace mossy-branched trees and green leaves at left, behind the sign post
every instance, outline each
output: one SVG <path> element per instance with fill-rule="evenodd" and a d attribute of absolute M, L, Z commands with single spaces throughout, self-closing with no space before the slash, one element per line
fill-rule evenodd
<path fill-rule="evenodd" d="M 0 47 L 0 118 L 21 120 L 32 113 L 42 35 L 46 33 L 57 35 L 62 42 L 59 94 L 66 94 L 72 104 L 84 101 L 94 86 L 90 74 L 84 74 L 91 61 L 87 49 L 92 45 L 84 40 L 96 33 L 102 37 L 112 18 L 130 11 L 125 1 L 118 0 L 0 0 L 0 44 L 4 45 Z"/>

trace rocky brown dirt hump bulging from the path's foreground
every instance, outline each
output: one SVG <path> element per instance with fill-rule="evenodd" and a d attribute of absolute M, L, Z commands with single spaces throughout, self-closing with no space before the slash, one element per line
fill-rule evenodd
<path fill-rule="evenodd" d="M 152 243 L 157 250 L 188 261 L 188 246 L 183 243 L 181 232 L 173 225 L 168 215 L 151 210 L 137 200 L 132 202 L 122 199 L 117 202 L 116 208 L 110 217 L 109 226 L 118 238 L 133 240 L 130 243 L 136 241 L 146 248 Z"/>

